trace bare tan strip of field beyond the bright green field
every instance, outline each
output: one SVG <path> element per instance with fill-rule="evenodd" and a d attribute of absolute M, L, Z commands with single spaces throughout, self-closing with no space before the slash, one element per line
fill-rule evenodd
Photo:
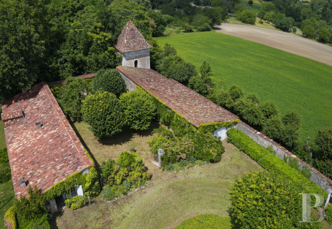
<path fill-rule="evenodd" d="M 223 23 L 222 32 L 255 41 L 332 66 L 332 47 L 288 32 L 254 26 Z"/>

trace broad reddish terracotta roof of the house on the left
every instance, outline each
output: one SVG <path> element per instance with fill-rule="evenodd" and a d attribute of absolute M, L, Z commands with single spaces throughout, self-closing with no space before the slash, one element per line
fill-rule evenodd
<path fill-rule="evenodd" d="M 23 111 L 26 117 L 4 122 L 14 192 L 26 195 L 19 178 L 41 190 L 93 163 L 70 126 L 48 85 L 44 82 L 25 94 L 2 103 L 2 112 Z M 42 127 L 37 129 L 36 121 Z"/>

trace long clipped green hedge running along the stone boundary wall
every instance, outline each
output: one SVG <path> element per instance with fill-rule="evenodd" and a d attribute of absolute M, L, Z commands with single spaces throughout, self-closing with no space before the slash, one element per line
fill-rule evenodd
<path fill-rule="evenodd" d="M 256 143 L 240 130 L 234 128 L 228 130 L 227 142 L 233 143 L 269 172 L 284 176 L 285 179 L 296 183 L 301 187 L 303 192 L 318 193 L 325 199 L 327 198 L 327 193 L 318 187 L 318 185 L 305 178 L 299 171 L 291 168 L 290 165 L 285 163 L 278 156 L 272 154 L 268 149 Z"/>

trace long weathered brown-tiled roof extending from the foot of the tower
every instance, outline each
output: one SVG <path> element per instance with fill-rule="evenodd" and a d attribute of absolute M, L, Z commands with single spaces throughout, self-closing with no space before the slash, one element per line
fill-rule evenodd
<path fill-rule="evenodd" d="M 211 102 L 202 95 L 168 79 L 152 69 L 118 66 L 117 69 L 168 107 L 183 115 L 198 127 L 209 122 L 233 121 L 236 115 Z"/>

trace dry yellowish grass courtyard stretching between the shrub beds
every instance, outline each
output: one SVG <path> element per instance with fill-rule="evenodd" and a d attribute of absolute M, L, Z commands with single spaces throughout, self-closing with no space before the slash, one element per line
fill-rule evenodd
<path fill-rule="evenodd" d="M 221 162 L 190 168 L 179 173 L 162 172 L 151 164 L 147 141 L 150 130 L 143 133 L 123 131 L 115 138 L 98 143 L 84 122 L 74 123 L 79 137 L 100 164 L 116 158 L 131 146 L 143 157 L 152 173 L 149 184 L 113 202 L 96 199 L 94 205 L 72 211 L 66 208 L 53 217 L 55 228 L 174 228 L 182 220 L 201 213 L 227 216 L 230 207 L 228 191 L 234 179 L 260 166 L 232 144 Z"/>

